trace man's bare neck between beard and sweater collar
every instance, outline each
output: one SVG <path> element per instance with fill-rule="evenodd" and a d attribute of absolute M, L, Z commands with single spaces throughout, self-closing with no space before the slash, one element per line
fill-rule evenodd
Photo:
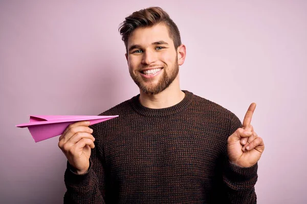
<path fill-rule="evenodd" d="M 185 93 L 180 90 L 179 76 L 164 91 L 147 95 L 140 91 L 140 103 L 142 106 L 151 109 L 162 109 L 174 106 L 183 100 Z"/>

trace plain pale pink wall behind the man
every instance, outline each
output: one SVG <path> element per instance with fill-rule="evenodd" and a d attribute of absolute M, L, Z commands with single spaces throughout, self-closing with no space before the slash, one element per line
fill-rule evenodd
<path fill-rule="evenodd" d="M 257 103 L 258 203 L 307 202 L 306 1 L 55 2 L 0 2 L 1 203 L 62 202 L 58 137 L 35 143 L 15 125 L 30 114 L 97 115 L 136 95 L 118 26 L 149 6 L 170 14 L 187 46 L 182 89 L 241 120 Z"/>

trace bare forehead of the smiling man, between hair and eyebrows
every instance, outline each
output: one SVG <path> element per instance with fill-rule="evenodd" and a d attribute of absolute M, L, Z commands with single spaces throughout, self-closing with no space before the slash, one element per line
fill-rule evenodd
<path fill-rule="evenodd" d="M 135 44 L 147 46 L 161 40 L 167 42 L 169 45 L 173 44 L 166 25 L 157 24 L 152 27 L 137 28 L 128 39 L 128 47 Z"/>

